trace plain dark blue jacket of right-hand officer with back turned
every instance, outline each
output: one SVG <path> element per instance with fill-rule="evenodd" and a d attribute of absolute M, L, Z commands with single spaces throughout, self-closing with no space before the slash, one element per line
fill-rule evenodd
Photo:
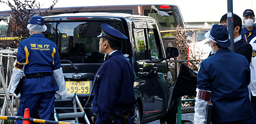
<path fill-rule="evenodd" d="M 229 49 L 219 49 L 202 61 L 197 87 L 212 91 L 212 122 L 225 123 L 252 118 L 248 87 L 250 69 L 247 59 Z"/>

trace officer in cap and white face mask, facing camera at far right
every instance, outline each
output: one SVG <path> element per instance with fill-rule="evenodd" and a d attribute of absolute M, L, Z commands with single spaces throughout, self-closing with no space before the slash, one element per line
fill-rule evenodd
<path fill-rule="evenodd" d="M 256 36 L 256 27 L 253 25 L 255 22 L 255 15 L 251 9 L 246 9 L 242 16 L 244 27 L 242 27 L 241 35 L 245 41 L 250 43 L 250 40 Z"/>

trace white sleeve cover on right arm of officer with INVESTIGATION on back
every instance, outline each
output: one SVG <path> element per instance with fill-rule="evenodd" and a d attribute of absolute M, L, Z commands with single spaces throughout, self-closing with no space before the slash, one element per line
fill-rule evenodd
<path fill-rule="evenodd" d="M 61 96 L 61 99 L 67 99 L 67 89 L 65 87 L 65 79 L 62 72 L 62 68 L 53 70 L 54 78 L 59 86 L 59 91 L 56 91 L 57 94 Z"/>

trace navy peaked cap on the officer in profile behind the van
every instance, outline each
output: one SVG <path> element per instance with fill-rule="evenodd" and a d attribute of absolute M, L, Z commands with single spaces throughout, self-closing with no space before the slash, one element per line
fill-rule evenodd
<path fill-rule="evenodd" d="M 111 41 L 118 41 L 118 42 L 122 42 L 124 39 L 128 39 L 120 31 L 114 29 L 113 27 L 111 27 L 106 23 L 101 24 L 100 27 L 102 30 L 100 35 L 98 35 L 98 37 L 105 37 Z"/>

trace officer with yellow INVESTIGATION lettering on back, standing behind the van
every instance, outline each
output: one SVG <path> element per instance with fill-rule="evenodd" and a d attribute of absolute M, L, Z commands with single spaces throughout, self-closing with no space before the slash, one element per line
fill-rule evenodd
<path fill-rule="evenodd" d="M 20 98 L 17 116 L 24 116 L 24 110 L 29 108 L 30 116 L 33 117 L 38 106 L 40 119 L 50 120 L 51 113 L 54 113 L 55 92 L 61 99 L 67 98 L 60 57 L 56 44 L 42 34 L 47 29 L 44 18 L 31 17 L 27 27 L 31 36 L 20 42 L 10 81 L 10 93 Z M 23 73 L 25 80 L 22 91 L 15 94 Z M 22 124 L 22 121 L 16 121 L 15 124 Z"/>

